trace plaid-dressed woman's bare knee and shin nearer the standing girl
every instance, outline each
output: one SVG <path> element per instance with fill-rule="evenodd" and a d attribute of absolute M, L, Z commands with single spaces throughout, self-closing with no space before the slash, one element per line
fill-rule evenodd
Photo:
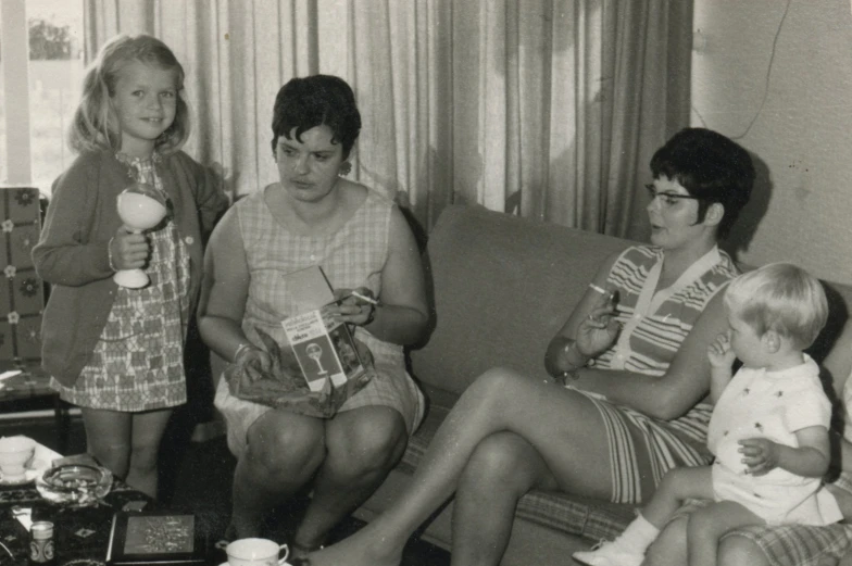
<path fill-rule="evenodd" d="M 325 458 L 322 419 L 268 411 L 249 428 L 237 462 L 229 534 L 260 536 L 266 514 L 313 478 Z"/>

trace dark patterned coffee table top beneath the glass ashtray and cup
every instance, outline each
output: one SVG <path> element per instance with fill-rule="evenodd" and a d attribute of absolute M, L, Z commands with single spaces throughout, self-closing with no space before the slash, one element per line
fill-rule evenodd
<path fill-rule="evenodd" d="M 0 486 L 0 542 L 14 558 L 0 548 L 0 566 L 27 566 L 29 533 L 12 516 L 12 507 L 30 507 L 33 520 L 53 521 L 57 566 L 103 566 L 110 542 L 112 517 L 131 502 L 143 502 L 146 511 L 156 503 L 146 494 L 122 482 L 114 482 L 103 503 L 92 507 L 66 507 L 45 501 L 35 483 Z"/>

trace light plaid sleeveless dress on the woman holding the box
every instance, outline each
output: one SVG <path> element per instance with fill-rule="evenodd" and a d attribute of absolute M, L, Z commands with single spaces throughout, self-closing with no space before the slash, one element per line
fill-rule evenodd
<path fill-rule="evenodd" d="M 337 232 L 320 237 L 293 234 L 279 224 L 266 206 L 264 191 L 234 206 L 251 274 L 242 329 L 253 343 L 262 343 L 255 328 L 278 343 L 287 343 L 280 322 L 293 314 L 295 305 L 281 275 L 320 265 L 334 289 L 366 287 L 379 295 L 393 203 L 378 192 L 368 190 L 364 203 Z M 409 433 L 413 433 L 423 418 L 425 400 L 405 372 L 402 347 L 379 340 L 362 327 L 355 328 L 354 336 L 373 353 L 375 375 L 340 412 L 389 406 L 402 415 Z M 249 427 L 272 411 L 231 395 L 225 379 L 220 379 L 215 405 L 227 422 L 228 446 L 236 455 L 246 448 Z"/>

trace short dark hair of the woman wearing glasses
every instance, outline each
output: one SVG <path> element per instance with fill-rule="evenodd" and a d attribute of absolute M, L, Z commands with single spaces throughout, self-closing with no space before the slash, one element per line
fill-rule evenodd
<path fill-rule="evenodd" d="M 751 197 L 754 165 L 737 142 L 706 128 L 684 128 L 651 158 L 654 178 L 676 180 L 699 198 L 698 222 L 714 202 L 725 207 L 717 238 L 725 238 Z"/>

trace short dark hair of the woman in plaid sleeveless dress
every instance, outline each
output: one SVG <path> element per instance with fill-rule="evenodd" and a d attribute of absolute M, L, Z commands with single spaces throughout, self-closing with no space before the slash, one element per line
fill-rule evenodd
<path fill-rule="evenodd" d="M 301 141 L 305 131 L 316 126 L 331 129 L 331 142 L 343 147 L 343 159 L 349 156 L 361 131 L 361 113 L 352 88 L 340 77 L 311 75 L 292 78 L 278 90 L 272 113 L 272 151 L 278 137 Z"/>

